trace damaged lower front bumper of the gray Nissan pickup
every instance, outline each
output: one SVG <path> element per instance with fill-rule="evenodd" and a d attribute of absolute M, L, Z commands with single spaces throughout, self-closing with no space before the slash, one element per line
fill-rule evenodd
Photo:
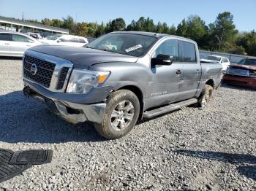
<path fill-rule="evenodd" d="M 37 90 L 37 87 L 30 82 L 24 81 L 24 95 L 36 98 L 45 103 L 50 111 L 68 122 L 97 122 L 101 123 L 105 114 L 105 103 L 97 104 L 76 104 L 69 101 L 61 101 Z"/>

